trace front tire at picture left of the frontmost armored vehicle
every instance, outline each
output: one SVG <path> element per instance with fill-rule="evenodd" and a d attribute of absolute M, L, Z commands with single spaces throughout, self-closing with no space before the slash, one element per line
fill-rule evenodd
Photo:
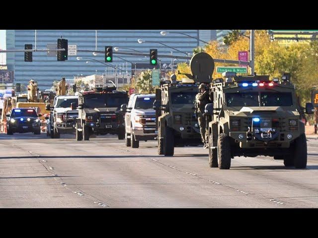
<path fill-rule="evenodd" d="M 218 163 L 220 170 L 229 170 L 231 167 L 231 142 L 230 136 L 219 134 L 218 138 Z"/>

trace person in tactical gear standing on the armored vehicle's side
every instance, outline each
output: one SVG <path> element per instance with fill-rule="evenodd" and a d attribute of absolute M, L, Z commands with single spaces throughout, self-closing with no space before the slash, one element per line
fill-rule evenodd
<path fill-rule="evenodd" d="M 199 122 L 200 126 L 200 134 L 202 138 L 202 142 L 204 144 L 204 148 L 208 148 L 209 144 L 209 135 L 206 123 L 206 117 L 204 113 L 205 105 L 210 103 L 210 95 L 209 90 L 207 90 L 207 85 L 204 83 L 201 83 L 199 86 L 200 92 L 195 97 L 195 114 Z"/>

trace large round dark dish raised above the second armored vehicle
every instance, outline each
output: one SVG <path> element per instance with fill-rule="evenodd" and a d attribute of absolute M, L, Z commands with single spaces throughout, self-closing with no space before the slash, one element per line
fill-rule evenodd
<path fill-rule="evenodd" d="M 193 80 L 199 83 L 210 83 L 214 71 L 214 60 L 205 52 L 195 54 L 190 61 Z"/>

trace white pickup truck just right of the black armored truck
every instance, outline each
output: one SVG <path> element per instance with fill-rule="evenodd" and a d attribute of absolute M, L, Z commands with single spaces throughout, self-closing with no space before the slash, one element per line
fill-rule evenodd
<path fill-rule="evenodd" d="M 132 94 L 128 105 L 123 104 L 125 114 L 125 144 L 139 147 L 139 141 L 155 140 L 156 111 L 153 109 L 155 94 Z"/>

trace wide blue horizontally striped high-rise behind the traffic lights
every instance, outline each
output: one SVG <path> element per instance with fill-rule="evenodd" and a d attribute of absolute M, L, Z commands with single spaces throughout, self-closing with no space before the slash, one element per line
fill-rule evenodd
<path fill-rule="evenodd" d="M 160 35 L 160 30 L 37 30 L 36 48 L 46 49 L 48 44 L 56 44 L 58 38 L 68 39 L 69 45 L 77 45 L 78 50 L 95 50 L 97 42 L 97 51 L 104 51 L 105 46 L 118 47 L 120 51 L 130 51 L 124 48 L 132 48 L 137 51 L 149 54 L 149 49 L 158 49 L 158 55 L 180 55 L 192 54 L 193 48 L 198 46 L 198 30 L 173 30 L 185 33 L 194 38 L 189 38 L 182 34 Z M 97 35 L 97 41 L 96 41 Z M 137 40 L 143 39 L 145 42 L 138 44 Z M 157 41 L 167 46 L 176 48 L 183 52 L 177 52 L 165 47 L 159 43 L 147 41 Z M 24 49 L 24 44 L 33 44 L 35 48 L 35 30 L 7 30 L 6 31 L 6 49 Z M 124 58 L 121 60 L 118 57 Z M 82 57 L 82 60 L 77 60 Z M 46 52 L 34 52 L 33 62 L 24 62 L 24 53 L 7 53 L 6 62 L 9 70 L 14 70 L 15 83 L 27 84 L 30 78 L 38 81 L 41 90 L 49 88 L 54 80 L 60 80 L 62 77 L 74 78 L 74 76 L 102 74 L 113 71 L 114 69 L 105 66 L 93 60 L 92 58 L 104 62 L 104 54 L 99 53 L 96 56 L 92 53 L 78 52 L 77 56 L 69 56 L 66 61 L 57 61 L 56 57 L 47 56 Z M 127 60 L 127 61 L 126 61 Z M 161 63 L 169 64 L 171 59 L 160 59 Z M 121 70 L 131 70 L 132 63 L 148 63 L 148 57 L 123 56 L 116 55 L 114 51 L 113 62 L 109 65 L 118 67 Z M 118 74 L 122 73 L 118 70 Z M 48 85 L 48 86 L 46 86 Z"/>

